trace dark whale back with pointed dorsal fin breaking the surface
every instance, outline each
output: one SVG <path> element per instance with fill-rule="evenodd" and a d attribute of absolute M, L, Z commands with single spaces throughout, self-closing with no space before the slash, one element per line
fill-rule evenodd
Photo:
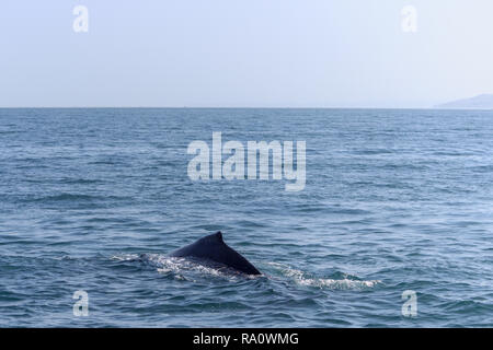
<path fill-rule="evenodd" d="M 191 258 L 202 265 L 214 262 L 245 275 L 262 275 L 249 260 L 241 256 L 240 253 L 222 241 L 222 233 L 220 231 L 176 249 L 170 253 L 169 256 Z"/>

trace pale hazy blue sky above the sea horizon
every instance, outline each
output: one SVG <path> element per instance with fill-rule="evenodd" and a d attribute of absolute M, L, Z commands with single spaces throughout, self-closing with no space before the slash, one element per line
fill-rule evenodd
<path fill-rule="evenodd" d="M 0 107 L 426 108 L 493 93 L 491 0 L 2 0 L 0 47 Z"/>

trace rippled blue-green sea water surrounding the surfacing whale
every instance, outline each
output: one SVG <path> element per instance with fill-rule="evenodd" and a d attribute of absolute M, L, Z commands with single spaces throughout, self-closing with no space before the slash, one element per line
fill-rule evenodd
<path fill-rule="evenodd" d="M 213 131 L 306 140 L 305 190 L 192 182 Z M 492 136 L 480 110 L 0 109 L 0 326 L 491 327 Z M 167 257 L 217 230 L 265 276 Z"/>

